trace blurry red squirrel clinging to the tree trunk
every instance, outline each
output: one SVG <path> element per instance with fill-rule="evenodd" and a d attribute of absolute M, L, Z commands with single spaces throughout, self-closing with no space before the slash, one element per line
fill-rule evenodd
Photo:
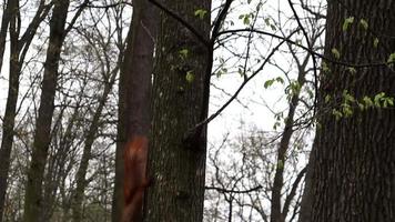
<path fill-rule="evenodd" d="M 124 161 L 124 206 L 122 222 L 142 220 L 144 190 L 150 184 L 145 175 L 149 140 L 144 135 L 134 135 L 123 150 Z"/>

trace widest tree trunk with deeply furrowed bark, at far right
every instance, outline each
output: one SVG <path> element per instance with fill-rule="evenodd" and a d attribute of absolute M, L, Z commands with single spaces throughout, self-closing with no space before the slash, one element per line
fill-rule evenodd
<path fill-rule="evenodd" d="M 326 56 L 333 57 L 331 50 L 336 48 L 343 61 L 387 61 L 395 51 L 394 11 L 393 0 L 328 1 Z M 354 17 L 354 22 L 343 31 L 348 17 Z M 377 48 L 375 38 L 379 40 Z M 300 221 L 395 221 L 394 109 L 361 111 L 353 105 L 352 117 L 336 120 L 332 114 L 334 108 L 341 108 L 344 90 L 359 101 L 379 92 L 394 97 L 394 71 L 385 65 L 361 68 L 356 73 L 338 64 L 330 63 L 328 68 L 331 71 L 321 77 L 320 125 Z M 326 95 L 333 99 L 325 102 Z"/>

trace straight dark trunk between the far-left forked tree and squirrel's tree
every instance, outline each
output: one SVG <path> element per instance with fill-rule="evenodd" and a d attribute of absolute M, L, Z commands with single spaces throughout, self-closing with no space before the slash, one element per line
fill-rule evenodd
<path fill-rule="evenodd" d="M 54 110 L 54 94 L 58 82 L 60 52 L 65 36 L 65 19 L 69 0 L 55 1 L 50 21 L 50 39 L 44 63 L 44 75 L 40 98 L 39 117 L 36 122 L 34 142 L 24 200 L 23 220 L 41 221 L 42 180 L 51 141 L 51 123 Z"/>

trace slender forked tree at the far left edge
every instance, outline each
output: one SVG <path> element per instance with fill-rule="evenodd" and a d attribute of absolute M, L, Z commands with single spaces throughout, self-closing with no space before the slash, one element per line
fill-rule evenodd
<path fill-rule="evenodd" d="M 20 88 L 20 75 L 24 58 L 29 51 L 30 44 L 36 36 L 40 23 L 47 18 L 52 3 L 45 4 L 44 0 L 40 0 L 37 12 L 23 33 L 21 33 L 21 11 L 19 1 L 9 0 L 2 23 L 2 29 L 7 29 L 9 20 L 10 34 L 10 64 L 9 64 L 9 85 L 8 97 L 6 102 L 6 112 L 2 124 L 2 138 L 0 147 L 0 221 L 4 209 L 4 196 L 7 191 L 7 180 L 10 169 L 10 155 L 13 144 L 17 102 Z M 8 18 L 7 18 L 8 17 Z M 4 30 L 1 31 L 3 34 Z M 7 34 L 6 34 L 7 37 Z M 1 38 L 4 38 L 2 36 Z M 3 40 L 0 40 L 3 41 Z M 2 43 L 0 46 L 3 48 Z M 3 50 L 3 49 L 0 49 Z M 1 52 L 2 53 L 2 52 Z M 2 59 L 2 58 L 0 58 Z"/>

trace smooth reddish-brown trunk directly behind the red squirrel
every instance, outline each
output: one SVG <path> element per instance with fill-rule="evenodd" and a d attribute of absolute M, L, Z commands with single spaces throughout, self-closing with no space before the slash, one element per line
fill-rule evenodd
<path fill-rule="evenodd" d="M 151 82 L 153 51 L 156 38 L 156 10 L 145 0 L 133 2 L 133 18 L 128 33 L 126 48 L 120 78 L 119 125 L 115 163 L 115 185 L 112 221 L 125 215 L 122 159 L 125 142 L 134 135 L 149 137 L 151 127 Z M 145 160 L 146 161 L 146 160 Z M 133 180 L 133 179 L 131 179 Z M 141 214 L 141 213 L 140 213 Z M 139 215 L 138 218 L 141 218 Z M 124 219 L 124 218 L 123 218 Z"/>

